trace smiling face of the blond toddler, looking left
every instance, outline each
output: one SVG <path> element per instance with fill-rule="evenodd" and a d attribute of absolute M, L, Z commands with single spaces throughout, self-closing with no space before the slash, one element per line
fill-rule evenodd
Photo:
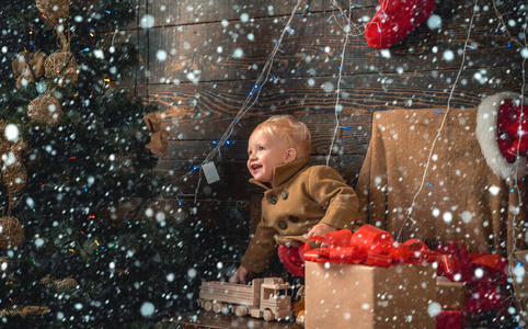
<path fill-rule="evenodd" d="M 273 185 L 273 169 L 295 160 L 296 151 L 263 131 L 251 134 L 248 144 L 248 169 L 253 178 Z"/>

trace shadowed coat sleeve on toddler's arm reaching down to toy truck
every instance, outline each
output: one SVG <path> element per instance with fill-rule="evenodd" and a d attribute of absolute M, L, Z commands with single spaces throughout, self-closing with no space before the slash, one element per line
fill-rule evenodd
<path fill-rule="evenodd" d="M 273 226 L 261 218 L 256 226 L 255 236 L 251 239 L 241 265 L 254 273 L 262 273 L 272 262 L 277 245 L 275 242 L 277 231 Z"/>

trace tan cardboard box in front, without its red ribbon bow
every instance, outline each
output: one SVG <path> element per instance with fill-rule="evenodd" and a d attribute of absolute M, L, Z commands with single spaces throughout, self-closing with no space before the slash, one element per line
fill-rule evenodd
<path fill-rule="evenodd" d="M 435 328 L 436 270 L 306 262 L 306 328 Z"/>

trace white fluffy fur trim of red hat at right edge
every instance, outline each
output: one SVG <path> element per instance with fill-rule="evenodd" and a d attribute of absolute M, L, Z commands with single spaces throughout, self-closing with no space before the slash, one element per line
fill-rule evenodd
<path fill-rule="evenodd" d="M 526 172 L 526 158 L 520 157 L 514 163 L 509 163 L 504 159 L 497 144 L 497 115 L 498 106 L 503 100 L 519 100 L 520 94 L 515 92 L 500 92 L 485 98 L 479 105 L 477 112 L 477 138 L 487 166 L 503 179 L 513 178 L 517 172 L 517 177 L 521 178 Z M 525 98 L 524 104 L 528 104 Z"/>

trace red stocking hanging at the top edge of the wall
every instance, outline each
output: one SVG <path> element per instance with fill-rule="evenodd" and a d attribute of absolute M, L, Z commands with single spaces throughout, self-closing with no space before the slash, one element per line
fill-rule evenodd
<path fill-rule="evenodd" d="M 380 8 L 367 23 L 365 36 L 372 48 L 388 48 L 401 42 L 425 22 L 436 0 L 380 0 Z"/>

